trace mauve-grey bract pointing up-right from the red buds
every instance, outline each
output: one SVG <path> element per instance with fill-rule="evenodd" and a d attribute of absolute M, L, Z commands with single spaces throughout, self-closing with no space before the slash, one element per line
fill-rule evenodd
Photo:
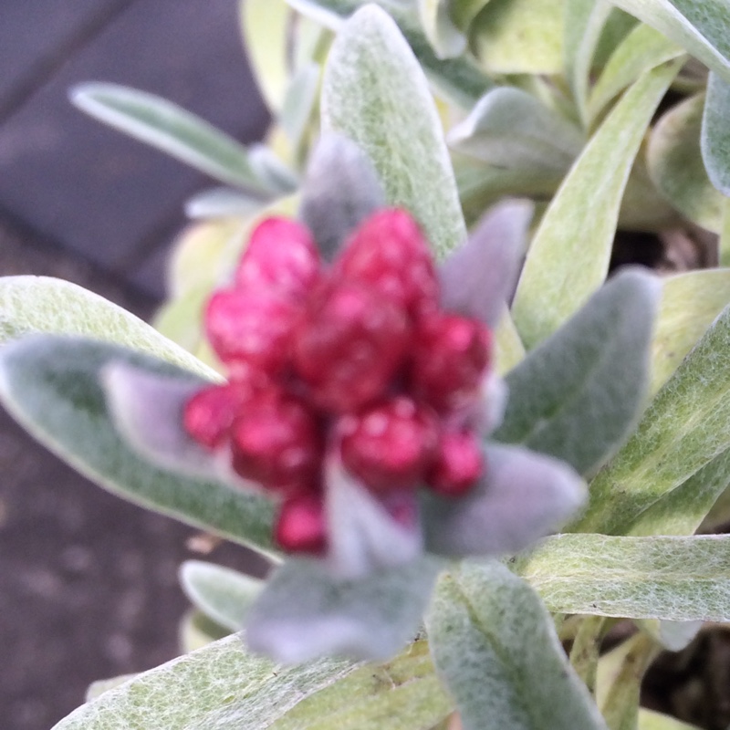
<path fill-rule="evenodd" d="M 526 200 L 499 203 L 485 214 L 439 268 L 444 309 L 496 327 L 514 291 L 532 214 Z"/>

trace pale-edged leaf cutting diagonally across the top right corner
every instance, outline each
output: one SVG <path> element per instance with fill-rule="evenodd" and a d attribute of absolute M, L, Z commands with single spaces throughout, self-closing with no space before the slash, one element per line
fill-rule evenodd
<path fill-rule="evenodd" d="M 724 0 L 612 0 L 730 80 L 730 14 Z"/>

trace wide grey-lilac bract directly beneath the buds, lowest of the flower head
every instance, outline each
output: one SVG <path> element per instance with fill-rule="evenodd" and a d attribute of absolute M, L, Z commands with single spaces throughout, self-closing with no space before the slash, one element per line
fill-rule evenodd
<path fill-rule="evenodd" d="M 387 659 L 415 637 L 437 572 L 433 558 L 417 558 L 343 580 L 321 560 L 290 558 L 251 608 L 245 641 L 287 664 L 323 655 Z"/>

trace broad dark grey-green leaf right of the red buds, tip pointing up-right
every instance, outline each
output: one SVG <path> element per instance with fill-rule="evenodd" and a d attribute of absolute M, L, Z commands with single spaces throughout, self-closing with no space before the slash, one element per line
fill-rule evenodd
<path fill-rule="evenodd" d="M 649 385 L 661 285 L 620 273 L 507 374 L 497 441 L 521 443 L 590 474 L 631 433 Z"/>

